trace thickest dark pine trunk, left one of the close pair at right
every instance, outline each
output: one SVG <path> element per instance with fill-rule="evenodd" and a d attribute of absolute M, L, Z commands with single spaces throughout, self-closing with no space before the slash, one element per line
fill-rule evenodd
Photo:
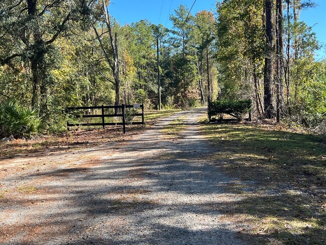
<path fill-rule="evenodd" d="M 272 118 L 274 108 L 272 103 L 272 82 L 273 82 L 273 20 L 272 20 L 273 1 L 265 1 L 266 11 L 266 57 L 264 68 L 264 110 L 265 117 Z"/>

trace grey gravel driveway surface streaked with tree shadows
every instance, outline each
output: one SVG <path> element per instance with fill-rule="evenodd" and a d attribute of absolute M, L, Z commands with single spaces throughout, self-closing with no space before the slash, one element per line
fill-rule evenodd
<path fill-rule="evenodd" d="M 218 212 L 239 197 L 207 158 L 205 112 L 178 112 L 110 145 L 1 161 L 0 243 L 245 244 Z M 162 134 L 180 117 L 180 134 Z"/>

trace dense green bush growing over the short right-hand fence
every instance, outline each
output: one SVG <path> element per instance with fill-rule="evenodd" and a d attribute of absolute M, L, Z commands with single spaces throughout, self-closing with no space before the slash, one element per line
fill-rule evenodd
<path fill-rule="evenodd" d="M 250 99 L 231 100 L 222 99 L 210 103 L 210 114 L 223 117 L 223 113 L 242 119 L 251 110 L 252 101 Z"/>

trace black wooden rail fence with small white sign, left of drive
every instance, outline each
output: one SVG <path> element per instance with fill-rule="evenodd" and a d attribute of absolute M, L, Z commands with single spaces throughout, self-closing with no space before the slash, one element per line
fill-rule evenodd
<path fill-rule="evenodd" d="M 122 110 L 122 113 L 120 114 L 104 114 L 104 109 L 115 109 L 120 108 Z M 81 123 L 81 124 L 70 124 L 69 121 L 67 121 L 67 129 L 69 131 L 69 127 L 74 126 L 102 126 L 103 129 L 105 126 L 113 126 L 113 125 L 122 125 L 123 126 L 123 133 L 126 133 L 126 115 L 125 115 L 125 109 L 126 108 L 141 108 L 141 113 L 134 113 L 133 116 L 141 116 L 141 121 L 132 122 L 133 125 L 144 125 L 144 104 L 133 104 L 133 105 L 101 105 L 101 106 L 80 106 L 80 107 L 68 107 L 67 112 L 71 110 L 81 110 L 81 109 L 101 109 L 101 114 L 97 115 L 76 115 L 75 117 L 82 117 L 82 118 L 102 118 L 102 122 L 94 122 L 94 123 Z M 122 122 L 105 122 L 105 117 L 122 117 Z"/>

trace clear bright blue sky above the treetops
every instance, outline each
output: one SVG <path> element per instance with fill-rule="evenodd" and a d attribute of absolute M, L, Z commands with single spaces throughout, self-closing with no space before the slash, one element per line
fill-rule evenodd
<path fill-rule="evenodd" d="M 321 43 L 326 44 L 326 0 L 314 0 L 318 5 L 316 8 L 305 10 L 300 19 L 313 26 L 313 31 Z M 121 24 L 131 24 L 142 19 L 147 19 L 153 24 L 162 24 L 171 27 L 169 15 L 183 4 L 189 8 L 194 0 L 111 0 L 110 14 Z M 216 0 L 197 0 L 192 14 L 202 10 L 215 10 Z M 170 8 L 171 7 L 171 8 Z M 326 57 L 326 48 L 317 52 L 316 58 Z"/>

